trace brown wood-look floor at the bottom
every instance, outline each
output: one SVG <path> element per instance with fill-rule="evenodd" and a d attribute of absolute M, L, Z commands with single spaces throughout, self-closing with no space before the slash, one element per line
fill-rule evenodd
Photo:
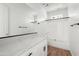
<path fill-rule="evenodd" d="M 48 56 L 71 56 L 70 51 L 48 46 Z"/>

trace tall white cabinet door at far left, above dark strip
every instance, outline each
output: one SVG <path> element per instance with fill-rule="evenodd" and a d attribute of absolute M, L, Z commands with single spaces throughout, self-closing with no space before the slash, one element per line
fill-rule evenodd
<path fill-rule="evenodd" d="M 8 7 L 0 3 L 0 37 L 8 35 Z"/>

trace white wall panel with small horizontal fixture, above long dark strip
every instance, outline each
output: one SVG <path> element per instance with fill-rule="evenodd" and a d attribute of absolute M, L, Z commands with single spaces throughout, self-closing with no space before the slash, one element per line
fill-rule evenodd
<path fill-rule="evenodd" d="M 32 19 L 32 10 L 30 7 L 22 3 L 11 3 L 7 5 L 10 10 L 10 35 L 33 32 L 33 27 L 31 27 L 33 24 L 28 24 L 29 20 Z"/>

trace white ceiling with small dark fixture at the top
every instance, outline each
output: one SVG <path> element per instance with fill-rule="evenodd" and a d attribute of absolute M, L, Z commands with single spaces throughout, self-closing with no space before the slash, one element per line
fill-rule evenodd
<path fill-rule="evenodd" d="M 65 3 L 26 3 L 34 10 L 44 9 L 47 12 L 66 7 Z M 48 6 L 46 6 L 48 4 Z M 46 6 L 46 7 L 45 7 Z"/>

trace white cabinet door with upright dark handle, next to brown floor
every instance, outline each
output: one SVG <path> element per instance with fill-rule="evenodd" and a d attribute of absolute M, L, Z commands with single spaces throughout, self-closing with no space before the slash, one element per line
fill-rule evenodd
<path fill-rule="evenodd" d="M 40 42 L 38 45 L 32 48 L 32 56 L 45 56 L 47 53 L 46 40 Z"/>

